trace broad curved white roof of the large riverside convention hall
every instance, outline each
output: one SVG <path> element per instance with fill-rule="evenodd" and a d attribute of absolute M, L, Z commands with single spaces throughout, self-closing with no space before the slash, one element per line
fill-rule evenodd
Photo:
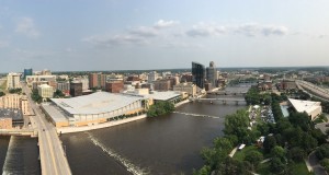
<path fill-rule="evenodd" d="M 140 96 L 124 94 L 113 94 L 107 92 L 95 92 L 90 95 L 72 98 L 50 98 L 56 105 L 70 114 L 102 114 L 125 107 L 136 101 L 143 100 Z"/>

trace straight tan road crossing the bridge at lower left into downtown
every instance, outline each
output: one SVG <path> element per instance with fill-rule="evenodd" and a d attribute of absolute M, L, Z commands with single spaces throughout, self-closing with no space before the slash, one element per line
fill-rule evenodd
<path fill-rule="evenodd" d="M 57 136 L 56 128 L 45 119 L 45 115 L 31 98 L 31 90 L 22 84 L 23 92 L 27 95 L 31 108 L 35 116 L 31 119 L 33 127 L 38 130 L 39 156 L 42 174 L 46 175 L 70 175 L 71 171 L 61 142 Z"/>

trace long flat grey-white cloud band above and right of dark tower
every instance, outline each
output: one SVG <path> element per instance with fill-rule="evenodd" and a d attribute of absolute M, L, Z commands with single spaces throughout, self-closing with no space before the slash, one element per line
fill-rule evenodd
<path fill-rule="evenodd" d="M 286 26 L 276 25 L 261 25 L 256 23 L 241 24 L 241 25 L 217 25 L 200 23 L 194 25 L 191 30 L 186 31 L 186 35 L 191 37 L 197 36 L 217 36 L 217 35 L 245 35 L 245 36 L 283 36 L 288 33 Z"/>

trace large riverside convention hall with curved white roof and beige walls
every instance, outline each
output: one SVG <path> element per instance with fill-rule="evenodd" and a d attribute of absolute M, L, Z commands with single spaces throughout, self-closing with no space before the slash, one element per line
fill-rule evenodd
<path fill-rule="evenodd" d="M 42 108 L 56 127 L 91 126 L 144 110 L 143 96 L 95 92 L 72 98 L 50 98 Z"/>

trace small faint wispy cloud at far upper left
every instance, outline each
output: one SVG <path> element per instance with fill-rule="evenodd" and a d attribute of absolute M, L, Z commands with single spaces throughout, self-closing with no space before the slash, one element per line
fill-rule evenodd
<path fill-rule="evenodd" d="M 33 38 L 39 36 L 39 32 L 31 18 L 21 18 L 16 23 L 15 32 Z"/>

